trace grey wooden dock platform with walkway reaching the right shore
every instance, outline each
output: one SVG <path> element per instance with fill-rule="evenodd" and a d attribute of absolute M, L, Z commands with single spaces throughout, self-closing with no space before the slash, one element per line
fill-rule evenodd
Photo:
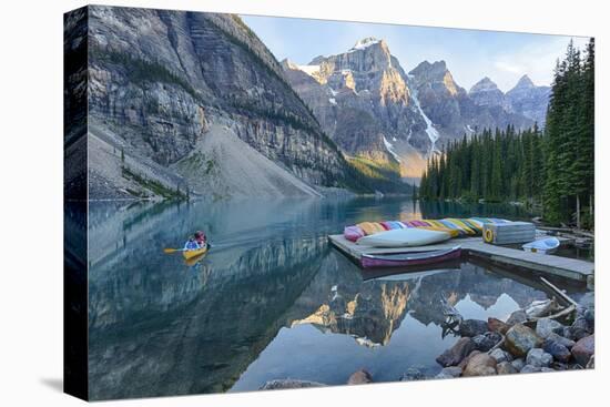
<path fill-rule="evenodd" d="M 469 256 L 482 258 L 499 265 L 522 267 L 557 277 L 569 278 L 577 282 L 590 283 L 594 275 L 594 264 L 591 262 L 523 252 L 516 248 L 496 246 L 485 243 L 479 237 L 451 238 L 447 242 L 423 247 L 382 248 L 360 246 L 346 240 L 343 235 L 329 235 L 328 240 L 340 252 L 345 253 L 356 263 L 359 263 L 363 254 L 390 254 L 421 251 L 435 251 L 461 246 L 462 252 Z M 566 242 L 562 242 L 566 243 Z"/>

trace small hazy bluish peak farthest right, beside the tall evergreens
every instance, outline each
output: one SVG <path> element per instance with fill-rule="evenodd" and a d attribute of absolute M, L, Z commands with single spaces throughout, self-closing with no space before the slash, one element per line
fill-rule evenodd
<path fill-rule="evenodd" d="M 506 92 L 506 98 L 515 112 L 545 125 L 550 94 L 550 87 L 537 87 L 528 75 L 522 75 L 515 88 Z"/>

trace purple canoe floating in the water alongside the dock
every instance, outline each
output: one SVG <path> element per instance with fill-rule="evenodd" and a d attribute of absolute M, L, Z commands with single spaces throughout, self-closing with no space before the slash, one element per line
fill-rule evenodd
<path fill-rule="evenodd" d="M 455 246 L 441 251 L 414 252 L 404 254 L 363 254 L 360 264 L 364 268 L 408 267 L 434 264 L 459 258 L 461 247 Z"/>

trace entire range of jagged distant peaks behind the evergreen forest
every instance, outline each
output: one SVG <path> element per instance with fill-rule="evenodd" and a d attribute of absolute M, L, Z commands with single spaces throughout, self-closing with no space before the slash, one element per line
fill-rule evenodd
<path fill-rule="evenodd" d="M 306 65 L 284 60 L 282 67 L 352 162 L 403 177 L 418 177 L 431 153 L 465 134 L 541 123 L 548 100 L 541 88 L 525 81 L 507 94 L 489 78 L 466 91 L 445 61 L 424 61 L 407 74 L 386 41 L 375 38 Z"/>

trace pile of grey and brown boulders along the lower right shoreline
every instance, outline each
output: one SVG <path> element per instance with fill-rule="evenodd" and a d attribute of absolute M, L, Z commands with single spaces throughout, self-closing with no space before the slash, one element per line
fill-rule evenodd
<path fill-rule="evenodd" d="M 594 304 L 592 293 L 573 312 L 561 313 L 555 299 L 537 301 L 515 311 L 506 320 L 462 319 L 449 313 L 451 330 L 460 338 L 436 362 L 443 369 L 427 375 L 409 367 L 397 380 L 445 379 L 522 373 L 579 370 L 594 368 Z M 568 309 L 569 311 L 569 309 Z M 562 316 L 559 316 L 562 315 Z M 560 322 L 561 320 L 561 322 Z M 374 383 L 366 369 L 349 376 L 347 385 Z M 295 379 L 267 381 L 261 389 L 326 386 Z"/>

